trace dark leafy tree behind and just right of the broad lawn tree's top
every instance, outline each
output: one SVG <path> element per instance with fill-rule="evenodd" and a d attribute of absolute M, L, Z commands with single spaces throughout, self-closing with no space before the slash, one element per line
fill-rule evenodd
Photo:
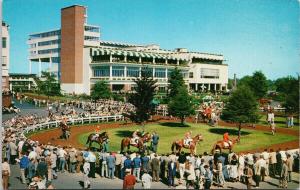
<path fill-rule="evenodd" d="M 263 98 L 267 94 L 267 78 L 261 71 L 256 71 L 253 73 L 250 88 L 257 99 Z"/>

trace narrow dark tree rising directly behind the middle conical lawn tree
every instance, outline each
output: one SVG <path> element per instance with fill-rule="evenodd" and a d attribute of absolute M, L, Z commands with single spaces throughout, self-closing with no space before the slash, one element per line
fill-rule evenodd
<path fill-rule="evenodd" d="M 171 72 L 169 83 L 169 98 L 172 98 L 178 94 L 179 88 L 185 85 L 183 76 L 177 67 Z"/>

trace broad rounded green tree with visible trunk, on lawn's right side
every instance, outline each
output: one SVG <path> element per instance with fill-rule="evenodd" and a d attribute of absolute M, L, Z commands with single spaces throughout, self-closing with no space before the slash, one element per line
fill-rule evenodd
<path fill-rule="evenodd" d="M 239 124 L 239 138 L 242 123 L 258 121 L 258 103 L 247 85 L 238 86 L 230 95 L 222 112 L 221 119 Z"/>

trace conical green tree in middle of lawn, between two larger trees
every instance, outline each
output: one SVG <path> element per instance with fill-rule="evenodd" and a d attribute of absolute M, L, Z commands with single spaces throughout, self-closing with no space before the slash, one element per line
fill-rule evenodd
<path fill-rule="evenodd" d="M 192 97 L 188 94 L 185 86 L 181 86 L 178 89 L 178 93 L 171 98 L 168 104 L 168 112 L 170 115 L 179 117 L 181 124 L 184 123 L 186 117 L 195 113 Z"/>

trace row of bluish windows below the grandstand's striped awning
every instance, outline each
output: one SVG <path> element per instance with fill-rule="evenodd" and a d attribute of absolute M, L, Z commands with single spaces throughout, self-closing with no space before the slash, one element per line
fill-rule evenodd
<path fill-rule="evenodd" d="M 93 76 L 94 77 L 109 77 L 109 66 L 98 66 L 93 68 Z M 153 76 L 153 69 L 149 68 L 146 72 L 149 75 Z M 166 69 L 156 68 L 154 71 L 155 78 L 166 78 L 170 76 L 172 69 L 168 69 L 166 73 Z M 127 77 L 138 77 L 140 75 L 139 67 L 127 67 L 126 76 Z M 112 76 L 113 77 L 124 77 L 125 76 L 125 67 L 124 66 L 112 66 Z"/>

